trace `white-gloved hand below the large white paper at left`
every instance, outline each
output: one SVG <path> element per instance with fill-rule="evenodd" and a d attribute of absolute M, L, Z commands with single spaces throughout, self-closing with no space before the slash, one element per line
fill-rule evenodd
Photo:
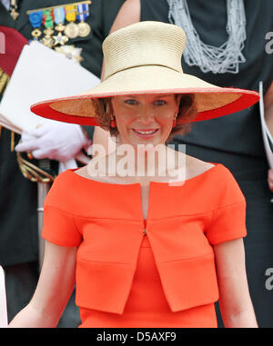
<path fill-rule="evenodd" d="M 32 153 L 36 159 L 51 159 L 66 162 L 75 157 L 92 141 L 77 124 L 61 122 L 45 124 L 32 131 L 22 133 L 22 143 L 15 146 L 17 152 Z"/>

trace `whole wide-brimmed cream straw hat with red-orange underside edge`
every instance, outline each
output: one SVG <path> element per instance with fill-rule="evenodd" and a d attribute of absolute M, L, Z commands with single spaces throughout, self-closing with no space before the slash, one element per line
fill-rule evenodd
<path fill-rule="evenodd" d="M 84 94 L 34 104 L 31 110 L 66 123 L 97 125 L 95 98 L 195 94 L 198 114 L 194 121 L 238 112 L 258 102 L 257 92 L 219 87 L 184 74 L 181 57 L 186 40 L 177 25 L 151 21 L 128 25 L 108 35 L 103 43 L 106 70 L 101 84 Z"/>

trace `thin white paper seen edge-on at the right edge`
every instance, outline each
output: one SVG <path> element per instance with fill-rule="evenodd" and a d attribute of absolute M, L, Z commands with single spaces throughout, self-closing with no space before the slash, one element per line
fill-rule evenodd
<path fill-rule="evenodd" d="M 268 124 L 265 119 L 265 107 L 264 107 L 264 99 L 263 99 L 263 83 L 259 82 L 259 114 L 261 121 L 261 129 L 264 140 L 264 146 L 267 153 L 268 165 L 271 169 L 273 169 L 273 136 L 268 129 Z"/>

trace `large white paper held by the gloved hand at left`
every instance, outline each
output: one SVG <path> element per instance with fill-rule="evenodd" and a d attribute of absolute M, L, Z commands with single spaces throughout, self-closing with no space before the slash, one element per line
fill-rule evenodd
<path fill-rule="evenodd" d="M 21 133 L 55 122 L 30 111 L 31 104 L 84 93 L 99 84 L 96 75 L 38 42 L 25 44 L 0 104 L 0 124 Z"/>

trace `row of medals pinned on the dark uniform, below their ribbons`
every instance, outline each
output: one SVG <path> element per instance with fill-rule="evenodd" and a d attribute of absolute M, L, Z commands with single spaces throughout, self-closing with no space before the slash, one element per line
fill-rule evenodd
<path fill-rule="evenodd" d="M 58 32 L 56 36 L 52 36 L 55 31 Z M 91 27 L 86 22 L 74 23 L 70 22 L 67 25 L 58 24 L 55 28 L 49 27 L 44 30 L 45 37 L 41 39 L 42 43 L 46 46 L 52 48 L 57 44 L 64 45 L 71 38 L 86 37 L 91 32 Z M 64 34 L 65 35 L 64 35 Z M 31 35 L 37 40 L 42 32 L 40 29 L 35 29 L 32 31 Z"/>

